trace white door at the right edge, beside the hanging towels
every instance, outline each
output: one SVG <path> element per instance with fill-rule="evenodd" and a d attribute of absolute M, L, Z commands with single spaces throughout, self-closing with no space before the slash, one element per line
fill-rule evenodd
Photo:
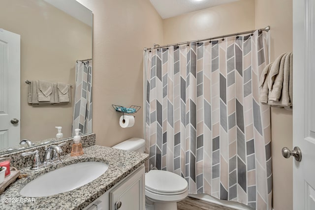
<path fill-rule="evenodd" d="M 315 0 L 293 0 L 293 210 L 315 210 L 314 12 Z"/>

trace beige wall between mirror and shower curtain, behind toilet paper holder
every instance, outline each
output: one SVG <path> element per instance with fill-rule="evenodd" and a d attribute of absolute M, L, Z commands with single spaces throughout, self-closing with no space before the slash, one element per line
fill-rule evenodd
<path fill-rule="evenodd" d="M 96 144 L 143 138 L 143 48 L 162 42 L 162 19 L 149 0 L 78 0 L 94 13 L 93 132 Z M 137 105 L 135 124 L 119 126 L 112 104 Z"/>

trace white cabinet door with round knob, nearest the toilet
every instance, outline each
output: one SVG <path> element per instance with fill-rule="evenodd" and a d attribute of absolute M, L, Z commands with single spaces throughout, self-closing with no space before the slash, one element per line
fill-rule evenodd
<path fill-rule="evenodd" d="M 130 177 L 109 193 L 110 210 L 145 210 L 145 167 L 142 165 Z M 115 204 L 121 202 L 120 208 Z M 116 207 L 120 205 L 116 205 Z"/>

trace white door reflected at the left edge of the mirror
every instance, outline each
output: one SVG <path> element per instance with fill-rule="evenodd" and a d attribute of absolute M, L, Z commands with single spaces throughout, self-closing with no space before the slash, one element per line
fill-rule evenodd
<path fill-rule="evenodd" d="M 19 144 L 20 115 L 20 35 L 0 29 L 0 149 Z"/>

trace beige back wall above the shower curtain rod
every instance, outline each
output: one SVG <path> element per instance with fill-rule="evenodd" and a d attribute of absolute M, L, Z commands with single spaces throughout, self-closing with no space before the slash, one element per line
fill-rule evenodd
<path fill-rule="evenodd" d="M 254 1 L 239 0 L 164 19 L 163 44 L 252 30 L 254 17 Z"/>

